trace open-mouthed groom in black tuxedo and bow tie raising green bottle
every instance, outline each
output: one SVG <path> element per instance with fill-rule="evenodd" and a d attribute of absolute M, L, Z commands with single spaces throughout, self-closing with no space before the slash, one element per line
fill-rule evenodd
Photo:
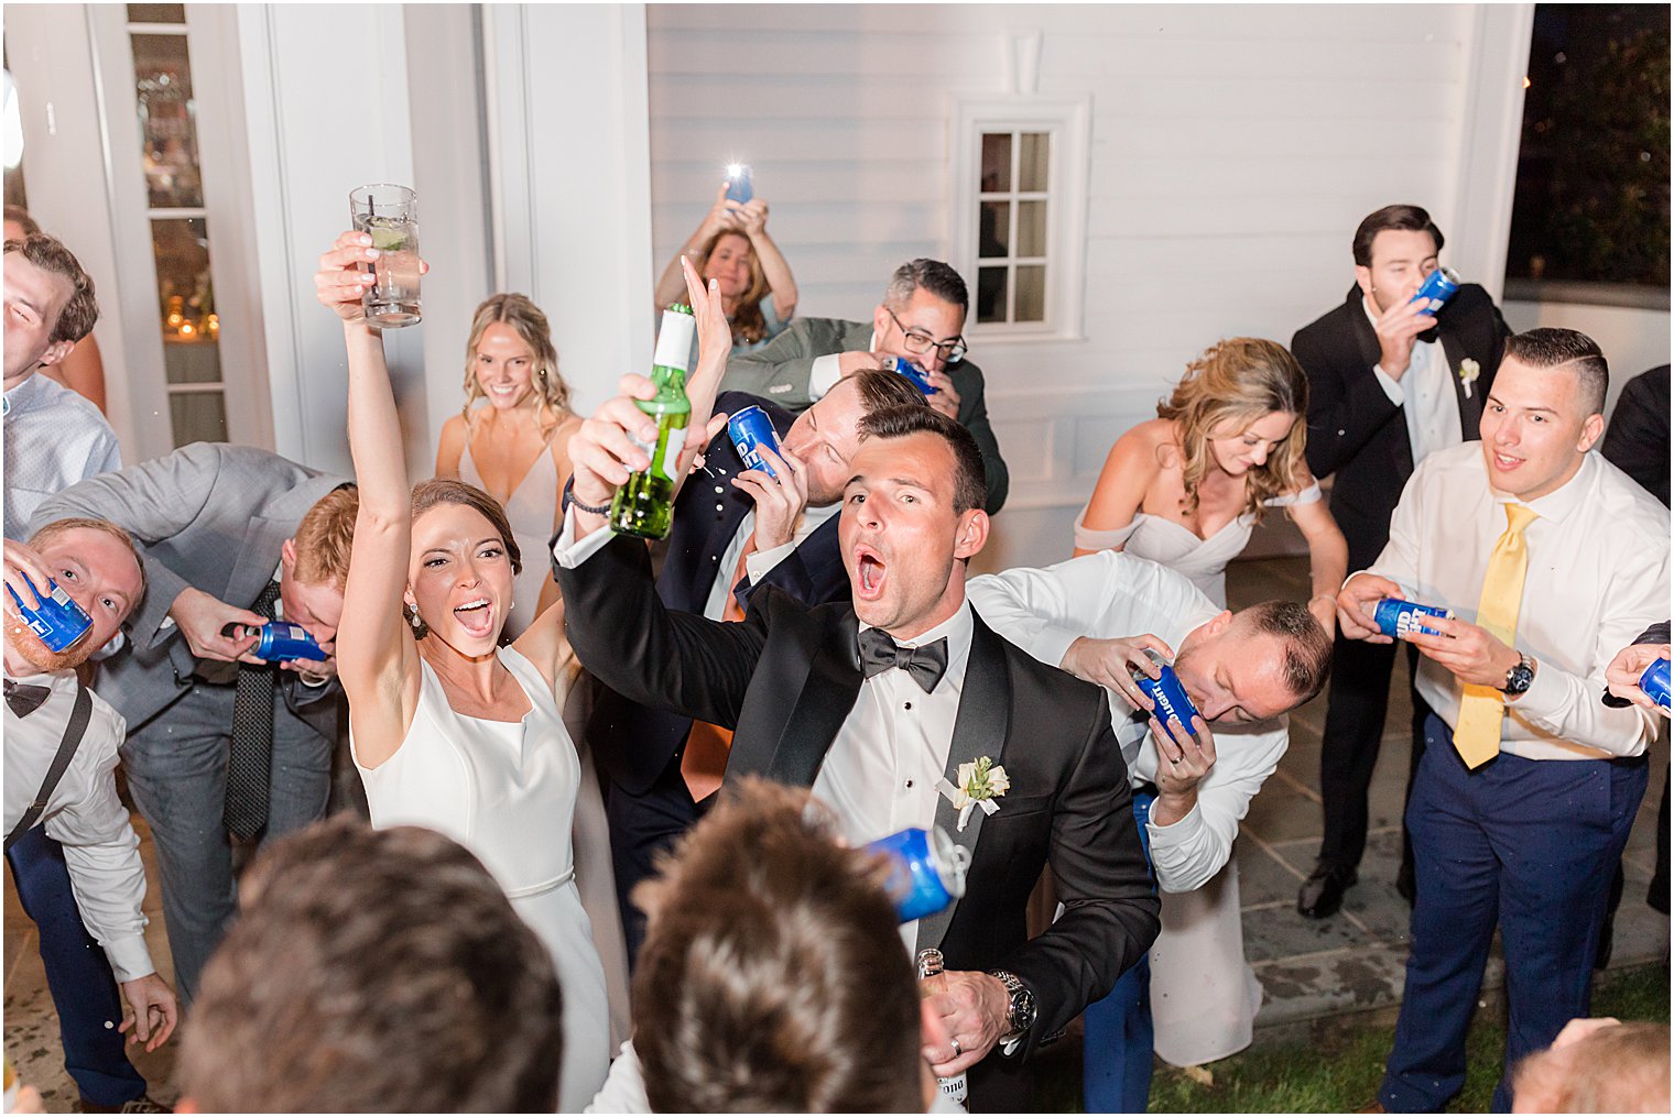
<path fill-rule="evenodd" d="M 650 395 L 646 381 L 631 390 Z M 718 624 L 668 612 L 644 547 L 586 512 L 646 465 L 628 438 L 646 425 L 618 398 L 571 443 L 574 503 L 554 558 L 576 652 L 634 701 L 733 727 L 728 781 L 812 786 L 850 841 L 939 824 L 969 849 L 964 898 L 904 928 L 947 965 L 932 990 L 953 1043 L 926 1057 L 937 1075 L 969 1070 L 973 1110 L 1030 1109 L 1023 1062 L 1143 955 L 1158 905 L 1105 692 L 1008 644 L 966 602 L 966 562 L 988 538 L 974 440 L 922 406 L 869 415 L 839 522 L 854 604 L 763 589 L 743 622 Z M 959 769 L 981 757 L 1009 783 L 961 824 Z M 1031 940 L 1024 908 L 1048 863 L 1065 913 Z"/>

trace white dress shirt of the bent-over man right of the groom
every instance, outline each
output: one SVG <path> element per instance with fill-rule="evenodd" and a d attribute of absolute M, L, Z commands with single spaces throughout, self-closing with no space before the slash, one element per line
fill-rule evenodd
<path fill-rule="evenodd" d="M 1076 637 L 1152 634 L 1175 652 L 1189 632 L 1220 614 L 1190 579 L 1148 558 L 1100 550 L 1043 570 L 1006 570 L 966 582 L 983 620 L 1035 659 L 1053 667 Z M 1155 783 L 1157 744 L 1145 719 L 1117 691 L 1110 722 L 1133 786 Z M 1214 726 L 1215 766 L 1197 784 L 1197 804 L 1168 824 L 1147 824 L 1152 866 L 1163 891 L 1200 888 L 1232 856 L 1232 839 L 1250 799 L 1279 768 L 1291 744 L 1289 719 Z"/>

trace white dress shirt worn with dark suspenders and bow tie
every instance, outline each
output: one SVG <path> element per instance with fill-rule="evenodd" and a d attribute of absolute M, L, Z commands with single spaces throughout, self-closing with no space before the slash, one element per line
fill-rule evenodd
<path fill-rule="evenodd" d="M 7 676 L 12 679 L 12 676 Z M 64 727 L 75 706 L 75 672 L 12 679 L 45 686 L 52 694 L 28 717 L 5 707 L 5 833 L 35 801 L 52 757 L 64 741 Z M 127 808 L 116 794 L 116 751 L 126 724 L 97 694 L 87 734 L 70 759 L 64 779 L 47 799 L 42 823 L 47 836 L 64 846 L 64 865 L 82 921 L 110 960 L 117 982 L 156 973 L 146 950 L 146 866 L 139 859 L 139 836 Z"/>

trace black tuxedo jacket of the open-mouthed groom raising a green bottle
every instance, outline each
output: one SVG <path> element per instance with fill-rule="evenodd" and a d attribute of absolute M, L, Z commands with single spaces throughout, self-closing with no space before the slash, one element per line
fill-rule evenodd
<path fill-rule="evenodd" d="M 668 612 L 644 547 L 628 538 L 557 579 L 569 639 L 599 679 L 644 706 L 735 727 L 728 781 L 814 783 L 860 694 L 850 605 L 810 607 L 770 589 L 740 624 Z M 1105 692 L 1036 662 L 981 617 L 966 672 L 947 768 L 991 756 L 1011 789 L 996 814 L 973 811 L 963 833 L 947 826 L 973 849 L 968 890 L 951 913 L 921 921 L 919 946 L 941 946 L 949 970 L 1016 973 L 1040 1005 L 1028 1053 L 1138 961 L 1157 938 L 1158 903 Z M 942 801 L 937 823 L 949 816 Z M 1030 940 L 1024 908 L 1046 863 L 1065 913 Z"/>

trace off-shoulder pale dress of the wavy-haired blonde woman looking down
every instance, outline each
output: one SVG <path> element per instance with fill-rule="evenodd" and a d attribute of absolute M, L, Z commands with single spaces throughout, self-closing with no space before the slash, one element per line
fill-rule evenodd
<path fill-rule="evenodd" d="M 1266 503 L 1282 508 L 1322 498 L 1319 485 Z M 1244 513 L 1209 538 L 1177 520 L 1138 512 L 1118 528 L 1095 532 L 1075 520 L 1075 545 L 1083 550 L 1120 547 L 1192 580 L 1215 602 L 1227 604 L 1227 564 L 1250 542 L 1256 517 Z M 1138 635 L 1138 634 L 1130 634 Z M 1173 1067 L 1225 1058 L 1250 1045 L 1262 988 L 1244 961 L 1244 920 L 1239 901 L 1239 863 L 1234 858 L 1209 881 L 1187 893 L 1162 893 L 1162 933 L 1152 945 L 1152 1025 L 1157 1057 Z"/>

